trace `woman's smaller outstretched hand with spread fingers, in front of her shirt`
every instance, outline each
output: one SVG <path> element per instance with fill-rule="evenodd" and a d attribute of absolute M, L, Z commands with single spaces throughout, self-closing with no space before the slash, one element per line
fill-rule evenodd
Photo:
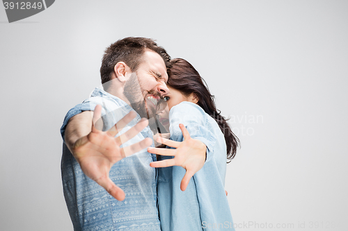
<path fill-rule="evenodd" d="M 186 173 L 184 178 L 182 178 L 180 189 L 182 191 L 185 191 L 187 185 L 189 185 L 191 177 L 198 170 L 202 169 L 205 163 L 207 146 L 205 146 L 205 144 L 203 144 L 203 142 L 198 139 L 192 139 L 189 135 L 189 132 L 182 123 L 180 123 L 179 126 L 184 137 L 183 142 L 175 142 L 163 137 L 157 137 L 157 142 L 176 149 L 148 148 L 148 152 L 157 155 L 174 156 L 173 159 L 151 162 L 150 166 L 155 168 L 163 168 L 167 166 L 182 166 L 184 169 L 186 169 Z"/>

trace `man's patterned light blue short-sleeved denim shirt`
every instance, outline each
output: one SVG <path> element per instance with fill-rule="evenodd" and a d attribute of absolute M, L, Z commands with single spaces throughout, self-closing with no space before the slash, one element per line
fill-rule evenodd
<path fill-rule="evenodd" d="M 61 128 L 63 139 L 69 119 L 83 111 L 94 110 L 97 104 L 102 105 L 103 130 L 108 130 L 133 110 L 116 96 L 102 89 L 95 89 L 89 99 L 72 108 L 66 115 Z M 120 134 L 134 126 L 140 119 L 137 115 Z M 149 127 L 123 145 L 129 146 L 145 137 L 152 138 Z M 126 194 L 125 200 L 118 201 L 81 171 L 79 164 L 63 144 L 61 161 L 63 191 L 74 230 L 160 230 L 157 173 L 156 169 L 150 167 L 150 162 L 154 160 L 155 155 L 144 149 L 116 162 L 111 167 L 109 174 L 111 180 Z"/>

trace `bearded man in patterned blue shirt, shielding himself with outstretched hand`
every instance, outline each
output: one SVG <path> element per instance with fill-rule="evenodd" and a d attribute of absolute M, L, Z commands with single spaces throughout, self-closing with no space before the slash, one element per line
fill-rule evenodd
<path fill-rule="evenodd" d="M 150 167 L 156 157 L 144 148 L 153 146 L 150 127 L 168 94 L 169 59 L 153 40 L 118 40 L 102 60 L 104 90 L 95 89 L 66 115 L 61 169 L 74 230 L 160 230 L 157 171 Z M 141 117 L 149 118 L 150 127 Z M 206 147 L 196 147 L 193 153 L 204 164 Z M 187 169 L 182 189 L 196 171 Z"/>

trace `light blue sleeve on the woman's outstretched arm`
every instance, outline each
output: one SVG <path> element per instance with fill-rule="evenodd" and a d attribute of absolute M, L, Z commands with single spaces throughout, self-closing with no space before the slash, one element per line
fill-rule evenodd
<path fill-rule="evenodd" d="M 211 158 L 209 153 L 214 153 L 216 137 L 207 129 L 207 114 L 200 106 L 186 101 L 179 103 L 171 108 L 169 121 L 172 140 L 177 142 L 184 140 L 179 127 L 179 124 L 182 123 L 189 131 L 191 138 L 198 139 L 207 146 L 207 161 Z"/>

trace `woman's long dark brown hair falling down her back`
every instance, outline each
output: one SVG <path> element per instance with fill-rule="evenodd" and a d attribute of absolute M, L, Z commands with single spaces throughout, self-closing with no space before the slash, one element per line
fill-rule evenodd
<path fill-rule="evenodd" d="M 236 155 L 239 139 L 228 125 L 228 119 L 221 115 L 220 110 L 216 109 L 214 96 L 210 94 L 205 80 L 200 77 L 198 71 L 196 71 L 187 60 L 175 58 L 171 60 L 171 64 L 171 73 L 167 83 L 168 86 L 177 89 L 185 96 L 189 96 L 192 93 L 196 94 L 198 97 L 197 104 L 200 108 L 203 108 L 203 110 L 219 124 L 225 136 L 227 159 L 232 160 Z"/>

